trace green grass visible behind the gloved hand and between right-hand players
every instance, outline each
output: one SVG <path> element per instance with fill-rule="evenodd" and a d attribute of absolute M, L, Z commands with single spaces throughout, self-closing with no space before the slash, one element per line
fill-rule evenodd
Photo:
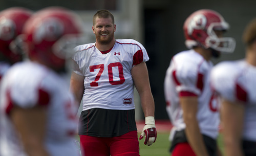
<path fill-rule="evenodd" d="M 138 133 L 138 138 L 140 133 Z M 152 146 L 144 145 L 144 138 L 139 140 L 140 143 L 140 155 L 141 156 L 170 156 L 169 146 L 170 142 L 168 140 L 169 132 L 158 133 L 157 140 Z M 218 145 L 223 153 L 223 142 L 222 137 L 218 138 Z"/>

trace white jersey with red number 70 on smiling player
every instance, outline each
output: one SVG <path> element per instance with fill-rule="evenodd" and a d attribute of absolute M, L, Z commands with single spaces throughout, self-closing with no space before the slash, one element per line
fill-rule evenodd
<path fill-rule="evenodd" d="M 85 76 L 83 109 L 134 109 L 133 66 L 147 61 L 145 48 L 133 39 L 117 39 L 109 53 L 102 54 L 95 43 L 75 48 L 73 59 Z"/>

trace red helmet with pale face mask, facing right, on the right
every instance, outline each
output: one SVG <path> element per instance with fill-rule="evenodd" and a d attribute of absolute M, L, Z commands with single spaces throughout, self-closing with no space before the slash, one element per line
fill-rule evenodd
<path fill-rule="evenodd" d="M 231 37 L 218 37 L 215 31 L 226 31 L 228 23 L 216 11 L 202 9 L 191 14 L 184 23 L 185 44 L 188 49 L 201 46 L 219 52 L 232 53 L 236 41 Z"/>

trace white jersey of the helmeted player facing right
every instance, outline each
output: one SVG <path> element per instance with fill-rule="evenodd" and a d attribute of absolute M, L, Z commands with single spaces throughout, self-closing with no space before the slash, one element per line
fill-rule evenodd
<path fill-rule="evenodd" d="M 218 136 L 219 103 L 209 83 L 212 62 L 206 61 L 194 50 L 176 54 L 166 71 L 164 93 L 166 110 L 175 130 L 185 128 L 180 96 L 198 97 L 197 119 L 202 134 L 213 139 Z"/>

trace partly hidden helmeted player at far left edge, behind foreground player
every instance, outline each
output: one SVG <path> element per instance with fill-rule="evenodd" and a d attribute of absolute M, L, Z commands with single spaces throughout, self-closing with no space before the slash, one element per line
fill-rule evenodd
<path fill-rule="evenodd" d="M 31 10 L 22 7 L 11 7 L 0 12 L 0 80 L 11 65 L 22 60 L 20 53 L 13 53 L 11 45 L 22 33 L 24 24 L 31 15 Z M 4 131 L 6 127 L 2 124 L 4 118 L 5 113 L 0 108 L 0 155 L 6 155 L 3 154 L 5 152 L 3 139 L 6 137 Z"/>

